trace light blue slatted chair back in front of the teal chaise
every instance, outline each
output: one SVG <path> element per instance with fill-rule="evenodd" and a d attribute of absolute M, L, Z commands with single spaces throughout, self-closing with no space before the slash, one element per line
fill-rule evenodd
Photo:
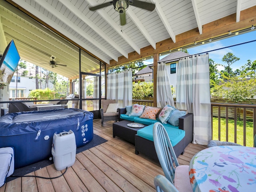
<path fill-rule="evenodd" d="M 174 160 L 176 166 L 179 166 L 179 163 L 173 150 L 170 138 L 164 126 L 159 122 L 154 124 L 153 138 L 156 154 L 164 171 L 164 175 L 173 184 L 175 168 L 173 166 L 172 159 Z"/>

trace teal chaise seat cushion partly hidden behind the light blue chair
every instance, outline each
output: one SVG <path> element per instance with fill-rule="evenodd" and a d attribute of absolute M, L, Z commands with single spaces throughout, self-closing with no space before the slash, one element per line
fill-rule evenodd
<path fill-rule="evenodd" d="M 137 135 L 147 140 L 153 141 L 153 127 L 154 127 L 154 124 L 146 126 L 138 130 Z M 167 131 L 167 134 L 170 138 L 172 146 L 175 146 L 176 144 L 178 144 L 178 142 L 180 142 L 185 137 L 184 130 L 165 126 L 165 124 L 164 124 L 164 128 Z"/>

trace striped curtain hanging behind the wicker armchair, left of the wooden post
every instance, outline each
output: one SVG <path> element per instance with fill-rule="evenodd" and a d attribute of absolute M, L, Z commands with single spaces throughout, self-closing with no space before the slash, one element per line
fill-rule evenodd
<path fill-rule="evenodd" d="M 107 99 L 114 99 L 120 107 L 132 105 L 132 70 L 107 76 Z"/>

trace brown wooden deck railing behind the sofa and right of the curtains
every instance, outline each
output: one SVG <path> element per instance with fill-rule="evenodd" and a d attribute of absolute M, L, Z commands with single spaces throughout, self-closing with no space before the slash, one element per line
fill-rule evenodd
<path fill-rule="evenodd" d="M 153 101 L 132 100 L 132 104 L 153 106 Z M 253 146 L 253 137 L 256 134 L 256 104 L 212 102 L 211 106 L 212 139 Z"/>

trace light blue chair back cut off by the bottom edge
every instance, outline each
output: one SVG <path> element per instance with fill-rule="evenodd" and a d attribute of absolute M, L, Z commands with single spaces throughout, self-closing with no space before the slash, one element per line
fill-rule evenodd
<path fill-rule="evenodd" d="M 158 175 L 154 178 L 156 192 L 179 192 L 165 176 Z"/>

